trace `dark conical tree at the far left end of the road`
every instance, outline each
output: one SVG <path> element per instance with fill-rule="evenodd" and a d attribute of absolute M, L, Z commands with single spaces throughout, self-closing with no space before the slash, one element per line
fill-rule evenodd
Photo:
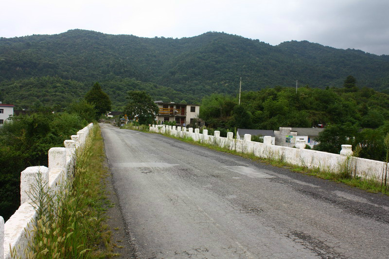
<path fill-rule="evenodd" d="M 111 109 L 111 100 L 109 96 L 103 92 L 101 86 L 96 82 L 85 95 L 85 100 L 88 103 L 94 104 L 96 109 L 96 119 Z"/>

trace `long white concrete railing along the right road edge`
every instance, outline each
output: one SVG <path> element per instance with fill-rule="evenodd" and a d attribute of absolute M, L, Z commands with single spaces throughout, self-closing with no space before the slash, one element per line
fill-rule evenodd
<path fill-rule="evenodd" d="M 304 149 L 305 143 L 297 141 L 296 148 L 276 146 L 271 144 L 271 137 L 265 136 L 264 143 L 251 141 L 251 135 L 246 134 L 243 140 L 234 139 L 233 133 L 228 132 L 227 138 L 220 137 L 220 132 L 215 131 L 214 136 L 208 135 L 208 130 L 199 133 L 199 129 L 165 125 L 152 125 L 150 131 L 158 133 L 168 133 L 177 137 L 191 137 L 195 141 L 209 143 L 215 146 L 226 147 L 243 153 L 252 153 L 261 158 L 275 158 L 297 166 L 309 169 L 319 169 L 320 171 L 342 172 L 345 167 L 355 172 L 356 175 L 382 179 L 388 171 L 387 163 L 382 161 L 357 158 L 352 156 L 351 145 L 342 145 L 340 155 Z"/>

